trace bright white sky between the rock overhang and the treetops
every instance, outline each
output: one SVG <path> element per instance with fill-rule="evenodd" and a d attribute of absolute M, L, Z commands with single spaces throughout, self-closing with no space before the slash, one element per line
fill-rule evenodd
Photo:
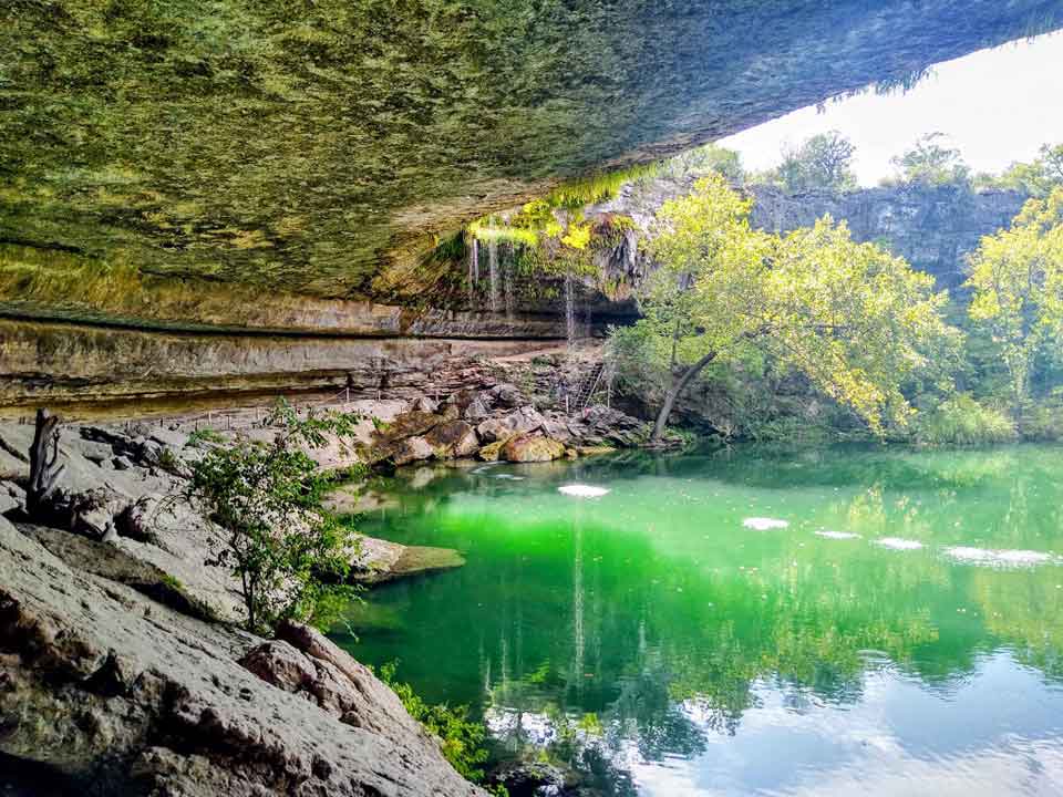
<path fill-rule="evenodd" d="M 907 93 L 869 92 L 823 112 L 802 108 L 718 144 L 760 172 L 778 163 L 784 145 L 832 130 L 856 145 L 861 185 L 892 176 L 889 159 L 926 133 L 945 133 L 976 172 L 1030 161 L 1042 144 L 1063 143 L 1063 32 L 946 61 Z"/>

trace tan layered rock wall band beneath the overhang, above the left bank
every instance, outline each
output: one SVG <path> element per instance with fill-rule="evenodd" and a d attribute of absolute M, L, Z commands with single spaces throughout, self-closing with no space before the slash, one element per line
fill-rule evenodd
<path fill-rule="evenodd" d="M 0 406 L 236 401 L 298 390 L 412 395 L 462 386 L 461 370 L 478 358 L 551 344 L 549 338 L 237 335 L 0 319 Z"/>

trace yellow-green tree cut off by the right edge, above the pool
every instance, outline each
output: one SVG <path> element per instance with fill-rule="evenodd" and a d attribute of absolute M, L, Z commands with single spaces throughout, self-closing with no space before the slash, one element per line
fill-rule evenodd
<path fill-rule="evenodd" d="M 970 257 L 970 318 L 990 333 L 1011 379 L 1016 421 L 1039 348 L 1063 327 L 1063 187 L 1030 199 Z"/>

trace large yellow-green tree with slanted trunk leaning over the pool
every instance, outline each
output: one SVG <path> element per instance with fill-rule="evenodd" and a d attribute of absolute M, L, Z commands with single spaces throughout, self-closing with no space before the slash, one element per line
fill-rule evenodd
<path fill-rule="evenodd" d="M 665 203 L 651 244 L 659 267 L 640 300 L 639 333 L 669 360 L 675 400 L 711 362 L 756 346 L 804 373 L 876 432 L 911 412 L 900 384 L 950 334 L 933 279 L 824 217 L 785 237 L 750 226 L 751 200 L 720 176 Z"/>

